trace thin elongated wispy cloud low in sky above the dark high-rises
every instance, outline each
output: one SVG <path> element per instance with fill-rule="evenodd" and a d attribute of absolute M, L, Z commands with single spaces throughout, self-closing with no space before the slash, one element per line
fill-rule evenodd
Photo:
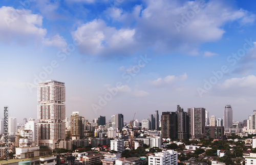
<path fill-rule="evenodd" d="M 173 84 L 174 82 L 177 81 L 184 81 L 187 79 L 187 74 L 184 73 L 183 75 L 180 75 L 179 77 L 175 75 L 168 75 L 164 78 L 158 78 L 156 80 L 150 81 L 150 84 L 155 86 L 155 87 L 165 87 L 170 84 Z"/>

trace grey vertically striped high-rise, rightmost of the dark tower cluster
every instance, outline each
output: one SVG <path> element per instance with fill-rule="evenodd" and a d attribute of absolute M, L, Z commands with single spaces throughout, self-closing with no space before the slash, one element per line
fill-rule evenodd
<path fill-rule="evenodd" d="M 189 116 L 190 137 L 195 138 L 204 134 L 205 108 L 188 108 L 187 114 Z"/>

